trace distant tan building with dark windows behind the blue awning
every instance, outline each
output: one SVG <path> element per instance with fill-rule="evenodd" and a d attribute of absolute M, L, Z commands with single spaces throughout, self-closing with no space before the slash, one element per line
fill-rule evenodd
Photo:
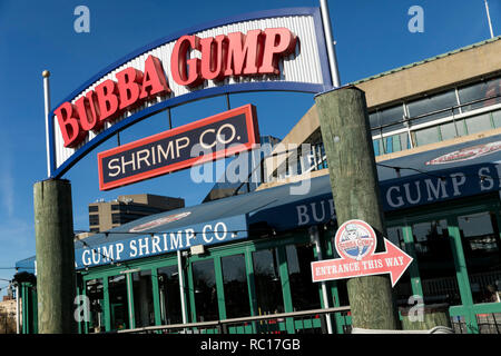
<path fill-rule="evenodd" d="M 89 204 L 89 230 L 90 233 L 107 231 L 145 216 L 184 206 L 185 199 L 150 194 L 119 196 L 112 201 L 96 201 Z"/>

